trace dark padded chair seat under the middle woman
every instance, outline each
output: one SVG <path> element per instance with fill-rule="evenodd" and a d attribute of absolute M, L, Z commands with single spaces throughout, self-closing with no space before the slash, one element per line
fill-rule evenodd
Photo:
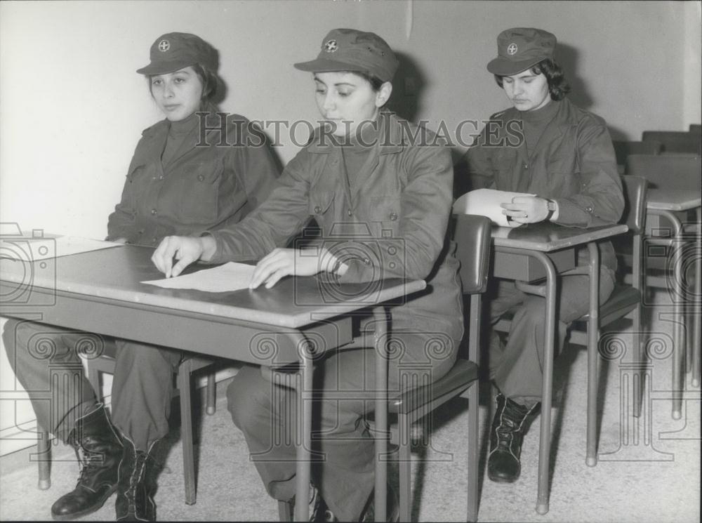
<path fill-rule="evenodd" d="M 431 383 L 404 391 L 401 395 L 390 399 L 388 412 L 407 414 L 421 409 L 428 404 L 450 399 L 462 392 L 478 377 L 478 367 L 468 359 L 458 359 L 453 368 L 443 378 Z"/>

